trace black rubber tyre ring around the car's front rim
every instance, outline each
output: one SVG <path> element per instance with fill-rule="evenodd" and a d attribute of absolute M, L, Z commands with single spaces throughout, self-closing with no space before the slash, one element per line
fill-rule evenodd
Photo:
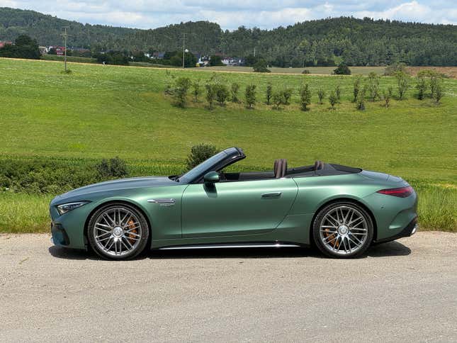
<path fill-rule="evenodd" d="M 123 207 L 125 209 L 132 211 L 132 213 L 135 213 L 138 220 L 140 220 L 141 227 L 143 227 L 140 244 L 138 244 L 138 246 L 134 250 L 132 250 L 128 254 L 125 254 L 122 256 L 113 256 L 113 255 L 106 254 L 105 252 L 103 252 L 103 250 L 101 250 L 98 247 L 98 245 L 96 244 L 95 239 L 94 239 L 94 224 L 95 224 L 96 218 L 98 218 L 98 216 L 101 215 L 101 213 L 105 212 L 106 210 L 109 210 L 110 208 L 115 208 L 115 207 Z M 145 250 L 147 242 L 149 242 L 149 225 L 147 224 L 145 215 L 143 215 L 142 212 L 140 210 L 138 210 L 135 206 L 131 206 L 127 203 L 108 203 L 105 206 L 98 208 L 98 210 L 96 210 L 91 215 L 89 224 L 87 225 L 87 240 L 89 240 L 91 249 L 93 249 L 94 252 L 96 252 L 96 254 L 98 254 L 98 256 L 102 257 L 103 259 L 114 259 L 114 260 L 133 259 Z"/>

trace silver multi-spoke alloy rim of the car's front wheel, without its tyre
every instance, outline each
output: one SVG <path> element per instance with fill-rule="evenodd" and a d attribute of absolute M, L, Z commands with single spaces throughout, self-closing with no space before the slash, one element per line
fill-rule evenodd
<path fill-rule="evenodd" d="M 105 254 L 123 256 L 140 244 L 143 228 L 140 219 L 128 208 L 114 207 L 98 215 L 94 241 Z"/>

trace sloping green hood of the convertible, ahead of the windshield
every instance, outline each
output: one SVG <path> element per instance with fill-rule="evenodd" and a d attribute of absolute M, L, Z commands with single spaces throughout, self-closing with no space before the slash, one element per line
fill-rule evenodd
<path fill-rule="evenodd" d="M 85 196 L 89 193 L 103 192 L 103 191 L 116 191 L 120 189 L 136 189 L 143 187 L 157 187 L 157 186 L 174 186 L 178 184 L 176 181 L 170 180 L 166 176 L 145 176 L 145 177 L 132 177 L 129 179 L 119 179 L 104 181 L 98 184 L 91 184 L 79 189 L 74 189 L 60 196 L 56 196 L 52 202 L 62 201 L 67 198 L 74 198 L 77 196 Z"/>

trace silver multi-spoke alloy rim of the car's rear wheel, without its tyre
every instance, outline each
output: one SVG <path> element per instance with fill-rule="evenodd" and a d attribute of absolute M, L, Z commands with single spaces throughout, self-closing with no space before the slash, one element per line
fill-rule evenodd
<path fill-rule="evenodd" d="M 330 252 L 354 254 L 367 240 L 368 223 L 356 208 L 338 206 L 324 215 L 319 231 L 322 244 Z"/>

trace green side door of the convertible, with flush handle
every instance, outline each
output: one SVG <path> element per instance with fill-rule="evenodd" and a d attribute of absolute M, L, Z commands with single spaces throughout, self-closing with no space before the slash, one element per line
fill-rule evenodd
<path fill-rule="evenodd" d="M 182 198 L 183 237 L 250 235 L 274 230 L 297 193 L 293 179 L 190 184 Z"/>

